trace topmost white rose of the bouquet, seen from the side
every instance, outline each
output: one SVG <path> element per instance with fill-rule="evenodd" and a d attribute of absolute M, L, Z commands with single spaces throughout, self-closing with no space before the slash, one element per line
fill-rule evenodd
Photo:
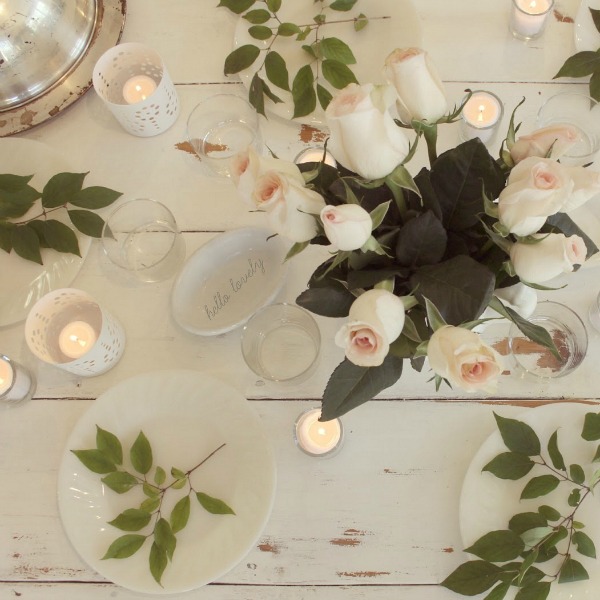
<path fill-rule="evenodd" d="M 435 123 L 448 110 L 444 84 L 420 48 L 394 50 L 385 60 L 384 75 L 398 92 L 398 112 L 405 123 Z"/>

